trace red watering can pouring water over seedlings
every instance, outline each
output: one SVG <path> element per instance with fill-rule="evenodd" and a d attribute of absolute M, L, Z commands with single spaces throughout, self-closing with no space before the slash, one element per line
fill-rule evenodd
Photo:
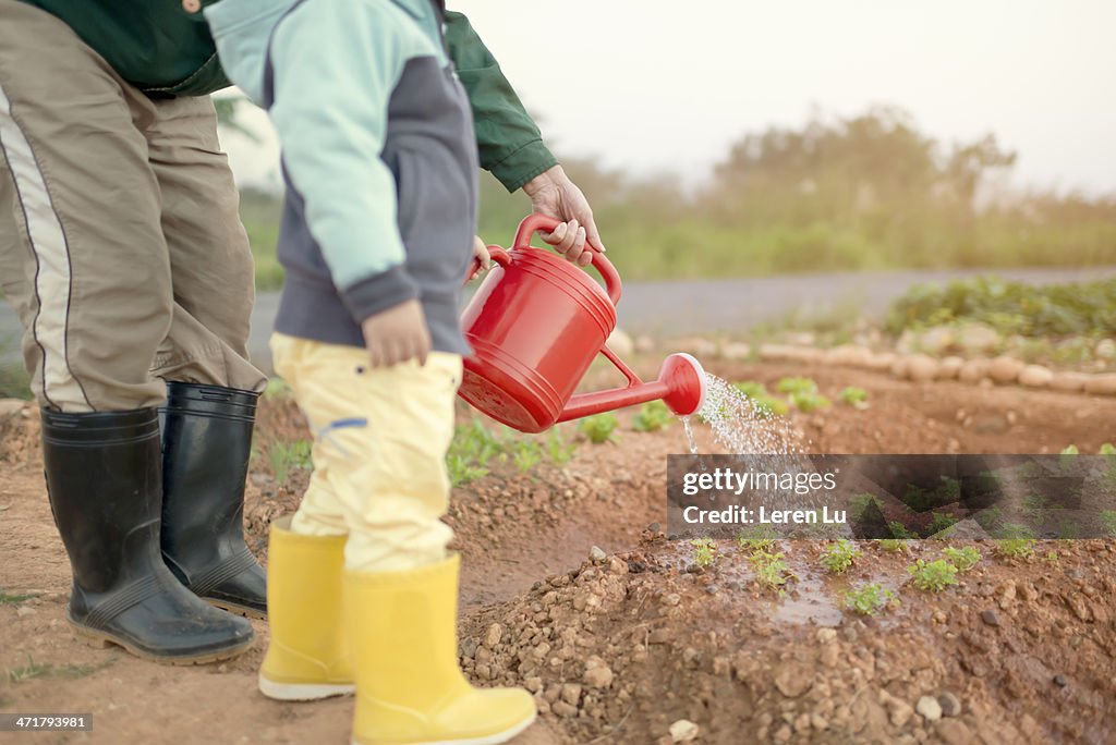
<path fill-rule="evenodd" d="M 701 408 L 705 373 L 690 355 L 671 355 L 658 379 L 644 383 L 605 346 L 616 328 L 619 274 L 594 252 L 593 265 L 605 280 L 602 289 L 571 262 L 530 244 L 535 231 L 549 232 L 558 224 L 552 217 L 528 215 L 510 251 L 489 246 L 498 265 L 461 317 L 473 356 L 464 361 L 458 395 L 497 422 L 527 433 L 657 398 L 679 416 Z M 627 386 L 575 396 L 598 352 L 624 374 Z"/>

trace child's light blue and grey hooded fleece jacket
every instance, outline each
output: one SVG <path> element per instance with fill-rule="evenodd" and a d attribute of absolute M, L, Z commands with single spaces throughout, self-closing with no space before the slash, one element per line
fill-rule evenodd
<path fill-rule="evenodd" d="M 434 348 L 466 350 L 449 327 L 475 231 L 477 145 L 442 11 L 430 0 L 205 8 L 222 66 L 269 107 L 282 149 L 277 330 L 363 345 L 362 320 L 417 297 Z"/>

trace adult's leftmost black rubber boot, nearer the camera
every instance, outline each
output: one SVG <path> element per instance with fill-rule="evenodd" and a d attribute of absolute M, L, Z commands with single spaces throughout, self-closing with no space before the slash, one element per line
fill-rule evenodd
<path fill-rule="evenodd" d="M 154 408 L 42 412 L 50 509 L 74 570 L 67 620 L 86 640 L 179 665 L 235 657 L 251 625 L 200 600 L 160 554 Z"/>

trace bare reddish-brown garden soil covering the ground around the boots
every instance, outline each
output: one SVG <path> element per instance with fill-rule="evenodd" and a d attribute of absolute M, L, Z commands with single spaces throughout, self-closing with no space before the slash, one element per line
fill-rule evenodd
<path fill-rule="evenodd" d="M 711 368 L 769 386 L 806 375 L 834 399 L 845 386 L 866 388 L 865 410 L 793 415 L 811 452 L 1057 453 L 1072 443 L 1095 453 L 1116 439 L 1113 398 L 839 368 Z M 604 369 L 590 377 L 613 380 Z M 798 581 L 780 598 L 757 584 L 735 544 L 694 571 L 691 546 L 663 536 L 665 456 L 684 452 L 682 428 L 636 433 L 629 413 L 620 419 L 618 443 L 583 443 L 561 468 L 496 466 L 453 496 L 462 665 L 478 685 L 536 694 L 542 715 L 517 742 L 668 743 L 672 725 L 677 738 L 696 732 L 692 742 L 709 743 L 1116 742 L 1114 542 L 1039 542 L 1030 559 L 971 543 L 981 563 L 931 593 L 906 567 L 937 558 L 941 541 L 908 553 L 864 542 L 839 578 L 820 570 L 822 544 L 782 541 Z M 266 561 L 267 524 L 296 507 L 307 478 L 295 470 L 279 483 L 268 451 L 306 433 L 285 400 L 264 403 L 258 429 L 246 524 Z M 75 640 L 37 439 L 30 408 L 0 414 L 0 712 L 92 712 L 94 731 L 0 741 L 347 742 L 350 699 L 290 705 L 256 690 L 263 622 L 249 652 L 195 668 Z M 711 448 L 708 432 L 699 439 Z M 603 558 L 589 558 L 593 546 Z M 902 606 L 876 617 L 844 610 L 841 591 L 869 580 Z"/>

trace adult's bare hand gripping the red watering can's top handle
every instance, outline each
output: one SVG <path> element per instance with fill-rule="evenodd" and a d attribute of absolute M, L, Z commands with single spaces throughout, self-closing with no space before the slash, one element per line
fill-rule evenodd
<path fill-rule="evenodd" d="M 543 241 L 570 261 L 586 267 L 593 261 L 587 245 L 604 252 L 597 223 L 585 194 L 577 187 L 560 165 L 543 171 L 523 184 L 523 192 L 531 197 L 531 209 L 556 220 L 565 220 L 552 233 L 539 232 Z"/>

